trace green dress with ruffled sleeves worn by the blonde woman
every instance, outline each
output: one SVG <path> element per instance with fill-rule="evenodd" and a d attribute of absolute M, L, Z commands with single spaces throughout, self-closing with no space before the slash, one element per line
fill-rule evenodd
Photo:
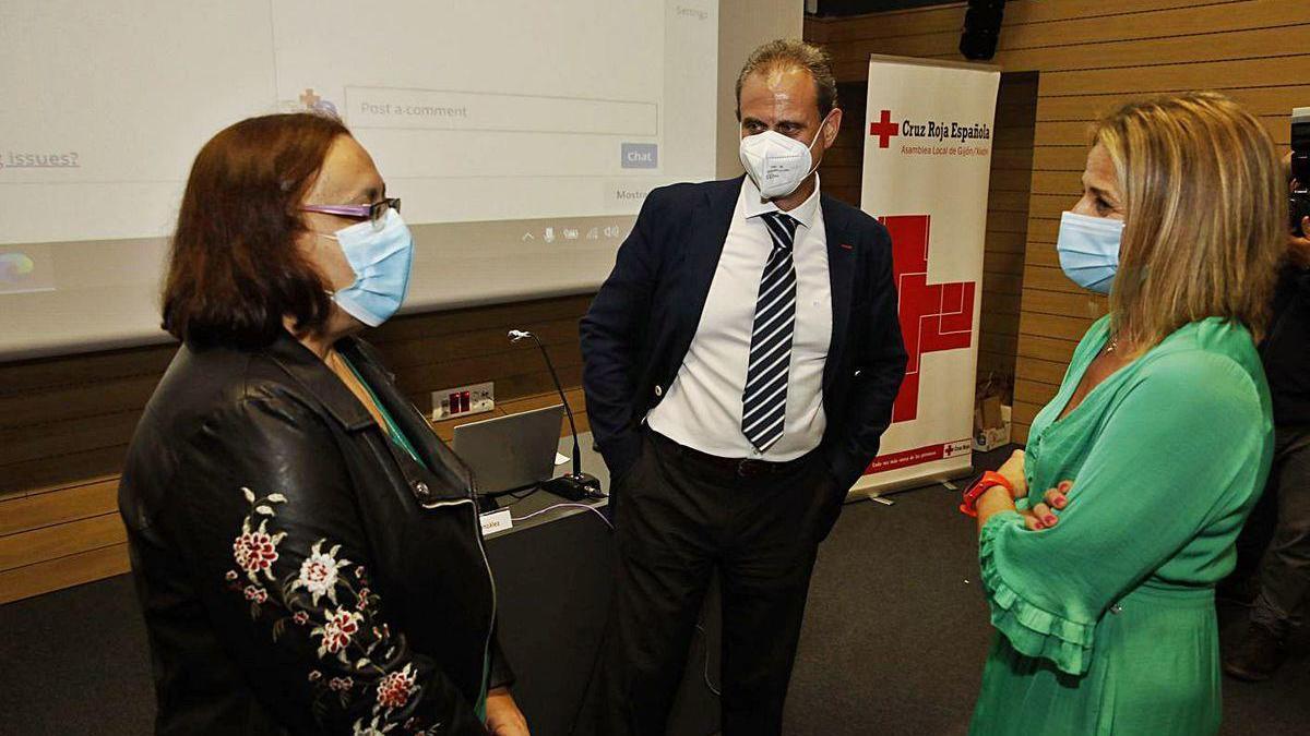
<path fill-rule="evenodd" d="M 1244 327 L 1192 322 L 1057 420 L 1108 329 L 1083 337 L 1028 436 L 1035 498 L 1074 481 L 1060 524 L 982 526 L 997 635 L 971 733 L 1218 731 L 1214 583 L 1269 470 L 1264 372 Z"/>

